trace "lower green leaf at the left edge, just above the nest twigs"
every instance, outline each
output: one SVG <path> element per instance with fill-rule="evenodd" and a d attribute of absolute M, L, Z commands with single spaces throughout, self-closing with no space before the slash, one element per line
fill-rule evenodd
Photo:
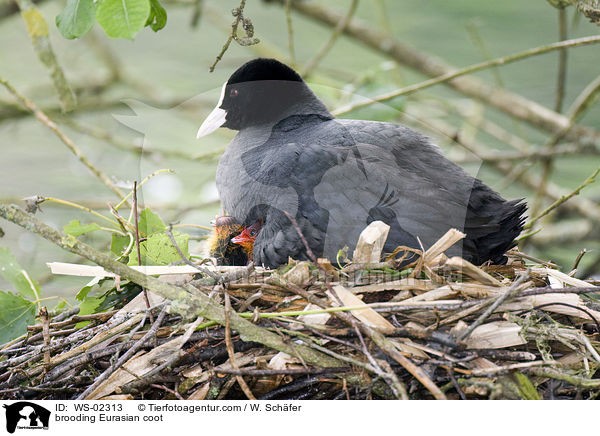
<path fill-rule="evenodd" d="M 27 333 L 35 321 L 35 304 L 19 295 L 0 291 L 0 344 Z"/>

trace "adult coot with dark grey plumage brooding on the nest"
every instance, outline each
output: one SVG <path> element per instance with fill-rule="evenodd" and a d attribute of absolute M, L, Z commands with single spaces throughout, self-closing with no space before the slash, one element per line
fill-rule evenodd
<path fill-rule="evenodd" d="M 503 264 L 523 228 L 522 200 L 505 200 L 410 128 L 334 118 L 298 73 L 274 59 L 231 75 L 198 137 L 218 127 L 238 131 L 216 182 L 228 214 L 244 226 L 263 220 L 257 265 L 306 259 L 284 211 L 312 251 L 330 259 L 381 220 L 390 226 L 386 252 L 427 249 L 454 227 L 467 236 L 448 255 Z"/>

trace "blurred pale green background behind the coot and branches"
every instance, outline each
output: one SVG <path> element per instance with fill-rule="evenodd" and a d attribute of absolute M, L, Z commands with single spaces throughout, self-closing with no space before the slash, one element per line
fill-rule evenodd
<path fill-rule="evenodd" d="M 216 103 L 221 84 L 251 58 L 270 56 L 295 65 L 335 110 L 365 96 L 377 96 L 428 78 L 383 53 L 391 41 L 458 68 L 560 39 L 597 35 L 599 29 L 593 22 L 597 21 L 593 5 L 588 16 L 582 15 L 581 11 L 586 12 L 582 9 L 585 2 L 247 0 L 244 16 L 251 20 L 254 34 L 241 32 L 240 27 L 240 35 L 260 42 L 232 42 L 214 72 L 209 73 L 231 34 L 231 11 L 240 6 L 239 0 L 163 0 L 160 4 L 167 14 L 164 28 L 159 25 L 164 24 L 160 11 L 161 22 L 157 24 L 155 19 L 153 26 L 157 32 L 141 17 L 138 25 L 149 27 L 141 28 L 131 40 L 109 38 L 105 33 L 106 17 L 102 21 L 97 17 L 102 27 L 91 22 L 85 36 L 66 39 L 55 19 L 68 3 L 45 0 L 37 3 L 37 9 L 28 0 L 18 3 L 22 11 L 41 12 L 67 88 L 61 95 L 59 85 L 57 92 L 56 75 L 53 79 L 36 54 L 44 40 L 34 37 L 32 44 L 31 26 L 29 34 L 26 26 L 31 20 L 27 21 L 27 14 L 19 14 L 13 0 L 0 0 L 0 77 L 47 113 L 93 165 L 118 181 L 124 191 L 130 189 L 133 180 L 140 181 L 161 168 L 172 169 L 174 173 L 157 175 L 143 186 L 140 203 L 157 212 L 166 223 L 202 225 L 209 225 L 220 211 L 215 168 L 233 132 L 222 129 L 196 140 L 196 130 Z M 361 41 L 361 35 L 336 32 L 335 23 L 319 23 L 296 3 L 317 4 L 325 12 L 336 13 L 338 22 L 347 17 L 349 23 L 360 22 L 383 37 L 379 45 L 369 46 Z M 578 5 L 565 7 L 571 3 Z M 341 33 L 339 37 L 337 33 Z M 600 74 L 600 47 L 591 44 L 570 48 L 562 56 L 561 60 L 561 52 L 552 51 L 473 76 L 493 89 L 521 96 L 527 104 L 536 102 L 568 114 L 578 96 Z M 560 79 L 561 65 L 564 80 Z M 72 108 L 66 101 L 69 86 L 76 95 Z M 555 189 L 554 194 L 569 193 L 600 164 L 600 105 L 588 105 L 581 115 L 577 123 L 588 126 L 589 135 L 553 141 L 556 131 L 534 127 L 527 116 L 509 116 L 444 84 L 343 114 L 395 121 L 429 135 L 451 159 L 505 197 L 525 197 L 535 213 L 556 199 L 544 194 L 546 188 L 561 189 Z M 540 151 L 553 148 L 561 154 L 551 159 L 540 157 Z M 73 201 L 107 216 L 107 203 L 118 202 L 47 126 L 0 87 L 0 202 L 23 205 L 24 197 L 35 195 Z M 530 229 L 536 233 L 522 241 L 521 248 L 560 264 L 566 271 L 586 248 L 590 252 L 581 259 L 578 276 L 600 274 L 599 200 L 600 182 L 592 183 L 537 222 Z M 53 202 L 43 203 L 38 214 L 56 228 L 72 220 L 94 221 L 86 212 Z M 8 246 L 17 261 L 42 284 L 43 295 L 72 297 L 73 290 L 88 281 L 51 277 L 46 262 L 81 259 L 6 221 L 0 222 L 0 228 L 5 233 L 0 245 Z M 192 236 L 190 251 L 197 253 L 207 231 L 185 231 Z M 108 249 L 110 235 L 103 232 L 81 238 Z M 7 288 L 0 279 L 0 289 Z"/>

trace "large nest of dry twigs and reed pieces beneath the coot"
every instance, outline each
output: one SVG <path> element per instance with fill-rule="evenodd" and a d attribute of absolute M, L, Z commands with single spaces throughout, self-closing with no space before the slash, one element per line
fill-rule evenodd
<path fill-rule="evenodd" d="M 457 231 L 380 262 L 384 230 L 367 228 L 343 267 L 314 259 L 275 271 L 214 267 L 216 283 L 199 273 L 161 278 L 210 297 L 224 321 L 208 309 L 186 319 L 182 304 L 149 291 L 119 310 L 42 316 L 0 347 L 0 398 L 600 394 L 599 287 L 517 251 L 503 266 L 448 258 Z"/>

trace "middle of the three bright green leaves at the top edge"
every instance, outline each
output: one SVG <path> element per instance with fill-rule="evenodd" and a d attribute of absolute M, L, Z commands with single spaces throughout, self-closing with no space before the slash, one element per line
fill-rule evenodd
<path fill-rule="evenodd" d="M 102 0 L 96 11 L 98 24 L 111 38 L 133 37 L 150 15 L 150 0 Z"/>

